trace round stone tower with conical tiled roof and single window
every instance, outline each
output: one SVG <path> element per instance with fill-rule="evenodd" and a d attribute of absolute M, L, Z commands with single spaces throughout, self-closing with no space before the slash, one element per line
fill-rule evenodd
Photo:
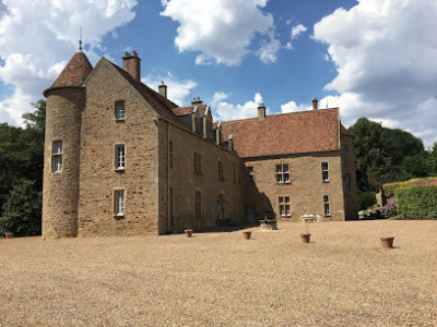
<path fill-rule="evenodd" d="M 85 106 L 84 81 L 92 70 L 86 56 L 79 51 L 44 92 L 44 239 L 78 235 L 81 113 Z"/>

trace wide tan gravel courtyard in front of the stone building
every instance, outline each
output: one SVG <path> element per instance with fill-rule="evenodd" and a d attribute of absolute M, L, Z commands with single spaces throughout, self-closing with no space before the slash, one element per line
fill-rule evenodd
<path fill-rule="evenodd" d="M 437 221 L 279 228 L 0 240 L 0 326 L 437 326 Z"/>

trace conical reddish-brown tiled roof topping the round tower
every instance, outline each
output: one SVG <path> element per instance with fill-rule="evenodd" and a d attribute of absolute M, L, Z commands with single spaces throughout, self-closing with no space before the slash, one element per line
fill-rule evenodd
<path fill-rule="evenodd" d="M 50 88 L 59 86 L 81 86 L 92 70 L 93 66 L 85 53 L 82 51 L 75 52 Z"/>

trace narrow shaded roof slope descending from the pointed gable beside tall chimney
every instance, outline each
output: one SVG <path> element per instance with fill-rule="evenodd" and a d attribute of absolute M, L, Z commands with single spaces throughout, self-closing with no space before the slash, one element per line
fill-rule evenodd
<path fill-rule="evenodd" d="M 116 70 L 141 94 L 141 96 L 155 109 L 157 114 L 160 117 L 164 118 L 165 120 L 178 124 L 180 126 L 185 126 L 185 124 L 177 118 L 177 116 L 173 112 L 175 108 L 177 108 L 177 105 L 172 102 L 169 99 L 166 97 L 162 96 L 157 92 L 153 90 L 145 84 L 141 83 L 140 81 L 137 81 L 119 68 L 118 65 L 111 63 Z"/>

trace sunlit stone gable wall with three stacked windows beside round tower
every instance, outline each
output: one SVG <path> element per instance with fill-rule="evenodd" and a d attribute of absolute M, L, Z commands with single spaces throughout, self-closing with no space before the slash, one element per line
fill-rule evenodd
<path fill-rule="evenodd" d="M 116 101 L 126 119 L 117 121 Z M 157 231 L 157 118 L 137 90 L 109 64 L 86 85 L 82 113 L 79 235 L 144 234 Z M 115 170 L 115 147 L 123 144 L 126 169 Z M 114 215 L 114 192 L 125 190 L 125 216 Z"/>

